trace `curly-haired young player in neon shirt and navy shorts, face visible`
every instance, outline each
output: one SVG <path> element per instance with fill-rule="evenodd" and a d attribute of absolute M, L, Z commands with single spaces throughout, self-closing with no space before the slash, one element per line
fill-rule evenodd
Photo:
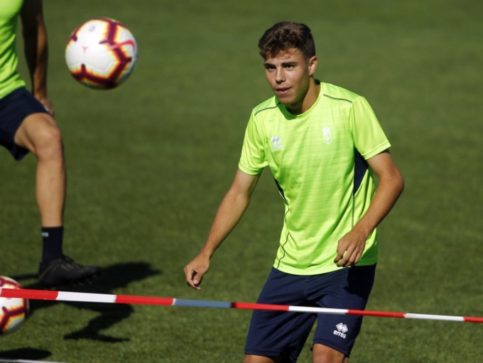
<path fill-rule="evenodd" d="M 377 261 L 376 226 L 403 190 L 389 141 L 363 97 L 315 79 L 318 59 L 307 26 L 276 23 L 259 48 L 275 96 L 251 113 L 239 169 L 205 246 L 185 266 L 186 281 L 200 289 L 215 249 L 268 167 L 285 216 L 258 302 L 364 309 Z M 295 362 L 315 320 L 313 362 L 348 362 L 362 317 L 263 310 L 251 318 L 244 362 Z"/>

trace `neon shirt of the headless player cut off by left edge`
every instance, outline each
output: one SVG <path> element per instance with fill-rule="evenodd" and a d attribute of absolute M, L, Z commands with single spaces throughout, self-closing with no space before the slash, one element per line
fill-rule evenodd
<path fill-rule="evenodd" d="M 23 0 L 0 0 L 0 98 L 25 87 L 17 71 L 16 33 Z"/>

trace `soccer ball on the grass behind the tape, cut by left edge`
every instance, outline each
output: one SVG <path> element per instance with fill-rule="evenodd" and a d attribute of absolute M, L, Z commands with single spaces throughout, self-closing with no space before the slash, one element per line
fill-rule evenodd
<path fill-rule="evenodd" d="M 0 276 L 0 288 L 22 288 L 13 278 Z M 28 300 L 0 298 L 0 335 L 18 330 L 28 315 Z"/>

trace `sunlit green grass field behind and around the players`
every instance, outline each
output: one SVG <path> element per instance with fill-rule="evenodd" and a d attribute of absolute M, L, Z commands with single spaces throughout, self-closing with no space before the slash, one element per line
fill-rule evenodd
<path fill-rule="evenodd" d="M 251 108 L 271 96 L 256 43 L 276 21 L 312 28 L 317 76 L 363 94 L 393 144 L 406 190 L 380 227 L 368 308 L 483 316 L 483 3 L 433 1 L 44 1 L 49 92 L 68 165 L 65 252 L 104 274 L 72 291 L 254 302 L 283 217 L 268 172 L 217 251 L 199 251 L 237 168 Z M 82 21 L 128 26 L 139 62 L 119 89 L 67 72 Z M 25 70 L 22 65 L 23 72 Z M 25 74 L 25 72 L 24 72 Z M 0 150 L 0 274 L 38 288 L 36 160 Z M 244 310 L 32 301 L 0 358 L 55 362 L 241 362 Z M 351 362 L 478 362 L 483 325 L 366 318 Z M 310 361 L 307 344 L 299 362 Z"/>

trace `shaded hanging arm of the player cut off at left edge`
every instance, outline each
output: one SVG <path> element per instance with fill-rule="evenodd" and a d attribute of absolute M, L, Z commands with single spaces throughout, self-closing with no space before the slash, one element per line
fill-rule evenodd
<path fill-rule="evenodd" d="M 48 41 L 47 28 L 43 20 L 42 0 L 23 1 L 20 16 L 26 61 L 31 75 L 32 94 L 53 114 L 53 106 L 47 97 Z"/>

